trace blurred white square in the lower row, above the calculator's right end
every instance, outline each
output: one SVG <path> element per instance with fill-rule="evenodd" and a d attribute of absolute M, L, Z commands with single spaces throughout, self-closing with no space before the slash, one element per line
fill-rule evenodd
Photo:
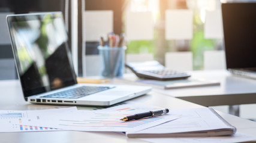
<path fill-rule="evenodd" d="M 172 70 L 193 70 L 192 52 L 166 52 L 165 67 Z"/>

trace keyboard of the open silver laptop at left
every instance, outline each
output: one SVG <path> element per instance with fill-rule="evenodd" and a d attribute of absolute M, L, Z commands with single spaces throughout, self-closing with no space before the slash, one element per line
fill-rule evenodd
<path fill-rule="evenodd" d="M 58 92 L 43 96 L 44 98 L 72 98 L 77 99 L 87 95 L 95 94 L 97 92 L 106 91 L 110 89 L 107 86 L 81 86 L 79 88 L 69 89 L 67 91 Z M 42 97 L 41 97 L 42 98 Z"/>

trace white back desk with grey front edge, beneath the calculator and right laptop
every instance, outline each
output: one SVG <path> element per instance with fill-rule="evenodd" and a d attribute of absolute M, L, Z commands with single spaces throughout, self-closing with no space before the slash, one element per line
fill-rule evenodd
<path fill-rule="evenodd" d="M 191 77 L 216 80 L 221 85 L 154 91 L 207 107 L 256 103 L 255 79 L 233 76 L 226 70 L 192 71 Z"/>

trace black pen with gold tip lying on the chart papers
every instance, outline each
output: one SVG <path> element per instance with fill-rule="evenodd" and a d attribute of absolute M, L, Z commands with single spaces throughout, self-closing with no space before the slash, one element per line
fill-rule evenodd
<path fill-rule="evenodd" d="M 123 117 L 120 120 L 123 120 L 123 121 L 137 120 L 137 119 L 141 119 L 141 118 L 144 118 L 144 117 L 160 116 L 160 115 L 166 114 L 168 112 L 169 112 L 168 108 L 163 108 L 163 109 L 160 109 L 160 110 L 153 110 L 153 111 L 147 111 L 145 113 L 138 113 L 138 114 L 130 115 L 130 116 L 127 116 L 127 117 Z"/>

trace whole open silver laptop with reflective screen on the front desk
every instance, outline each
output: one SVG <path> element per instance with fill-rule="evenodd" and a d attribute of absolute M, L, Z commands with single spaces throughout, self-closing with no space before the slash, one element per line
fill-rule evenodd
<path fill-rule="evenodd" d="M 109 106 L 151 90 L 148 86 L 77 83 L 60 12 L 8 15 L 7 23 L 28 102 Z"/>

